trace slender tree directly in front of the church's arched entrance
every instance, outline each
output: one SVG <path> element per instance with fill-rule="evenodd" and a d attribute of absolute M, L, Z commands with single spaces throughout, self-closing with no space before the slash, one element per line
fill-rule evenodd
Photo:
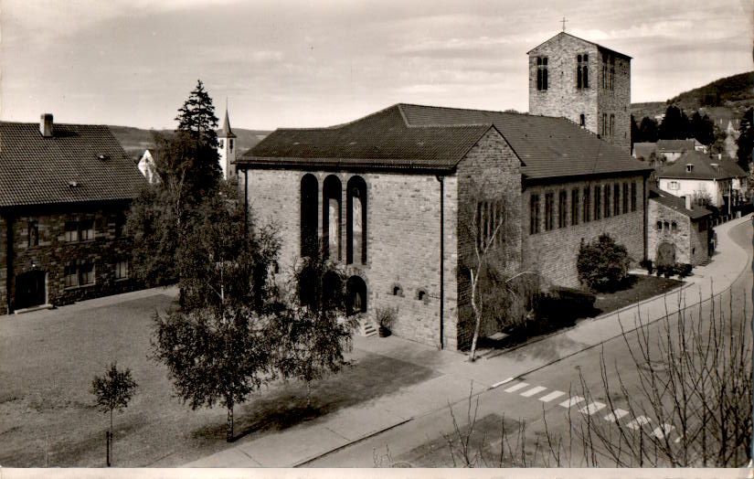
<path fill-rule="evenodd" d="M 318 254 L 294 266 L 287 314 L 279 316 L 277 367 L 283 378 L 306 385 L 306 407 L 311 406 L 314 380 L 334 374 L 350 363 L 345 353 L 357 317 L 347 316 L 345 277 L 332 261 Z"/>

